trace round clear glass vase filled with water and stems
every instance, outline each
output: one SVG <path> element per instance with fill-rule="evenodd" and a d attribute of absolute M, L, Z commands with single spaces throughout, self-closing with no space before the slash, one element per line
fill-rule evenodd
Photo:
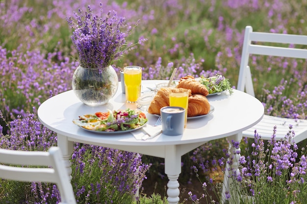
<path fill-rule="evenodd" d="M 112 66 L 101 69 L 79 66 L 74 72 L 72 86 L 77 98 L 84 104 L 100 106 L 115 95 L 118 76 Z"/>

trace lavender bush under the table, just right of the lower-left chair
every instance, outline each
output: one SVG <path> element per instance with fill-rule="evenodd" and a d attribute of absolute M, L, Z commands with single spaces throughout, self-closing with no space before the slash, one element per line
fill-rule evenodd
<path fill-rule="evenodd" d="M 73 175 L 79 175 L 72 180 L 79 202 L 86 198 L 106 203 L 125 201 L 135 194 L 150 167 L 142 164 L 139 154 L 79 143 L 72 158 Z"/>

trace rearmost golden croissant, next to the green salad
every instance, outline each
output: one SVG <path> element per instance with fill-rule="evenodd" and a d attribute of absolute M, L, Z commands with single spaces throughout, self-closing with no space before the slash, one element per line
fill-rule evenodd
<path fill-rule="evenodd" d="M 193 80 L 192 78 L 180 81 L 177 88 L 190 89 L 192 94 L 202 94 L 204 96 L 209 94 L 205 85 Z"/>

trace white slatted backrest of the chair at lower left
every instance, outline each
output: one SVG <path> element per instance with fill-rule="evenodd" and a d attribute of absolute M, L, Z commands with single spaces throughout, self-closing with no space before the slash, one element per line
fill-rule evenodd
<path fill-rule="evenodd" d="M 30 167 L 18 167 L 17 165 L 29 165 Z M 77 204 L 58 147 L 51 147 L 48 152 L 0 149 L 0 178 L 55 183 L 61 194 L 61 204 Z"/>

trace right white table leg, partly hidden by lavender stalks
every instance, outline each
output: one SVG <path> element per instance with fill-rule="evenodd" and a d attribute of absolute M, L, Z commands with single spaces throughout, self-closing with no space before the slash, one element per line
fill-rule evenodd
<path fill-rule="evenodd" d="M 231 175 L 234 172 L 236 173 L 236 175 L 238 175 L 240 173 L 240 170 L 239 170 L 240 154 L 237 154 L 237 153 L 241 152 L 241 149 L 240 149 L 240 147 L 237 147 L 237 148 L 234 147 L 231 144 L 231 141 L 240 142 L 242 140 L 242 133 L 236 134 L 236 135 L 233 135 L 233 136 L 229 136 L 228 139 L 230 141 L 228 153 L 230 154 L 230 158 L 233 158 L 233 159 L 232 159 L 231 166 L 229 165 L 229 163 L 226 164 L 226 172 L 225 172 L 225 175 L 224 175 L 224 183 L 223 183 L 223 191 L 222 191 L 222 204 L 226 202 L 226 193 L 230 193 L 230 185 L 233 182 L 235 182 L 231 178 Z M 230 159 L 228 159 L 228 161 L 229 160 Z M 230 169 L 231 169 L 231 171 L 229 171 Z M 230 204 L 239 204 L 240 203 L 239 196 L 240 195 L 231 195 Z"/>

